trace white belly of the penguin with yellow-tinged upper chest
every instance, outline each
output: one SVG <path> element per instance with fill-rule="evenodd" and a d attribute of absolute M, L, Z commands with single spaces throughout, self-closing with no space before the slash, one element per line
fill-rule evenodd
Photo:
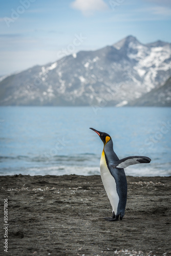
<path fill-rule="evenodd" d="M 119 196 L 116 190 L 115 179 L 110 173 L 110 170 L 108 169 L 108 165 L 106 164 L 104 151 L 102 152 L 101 159 L 100 159 L 100 175 L 101 175 L 101 180 L 102 180 L 104 189 L 112 205 L 112 209 L 115 215 L 117 215 Z"/>

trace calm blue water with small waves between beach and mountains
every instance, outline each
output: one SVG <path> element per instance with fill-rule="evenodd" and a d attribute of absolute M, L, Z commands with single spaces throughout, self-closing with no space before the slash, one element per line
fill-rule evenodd
<path fill-rule="evenodd" d="M 119 158 L 152 159 L 126 175 L 171 175 L 170 117 L 170 108 L 1 107 L 0 175 L 100 174 L 103 143 L 89 127 L 111 135 Z"/>

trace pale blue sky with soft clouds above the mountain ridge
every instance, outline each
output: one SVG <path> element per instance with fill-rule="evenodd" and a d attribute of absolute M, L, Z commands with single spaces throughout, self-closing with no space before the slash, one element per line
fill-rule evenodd
<path fill-rule="evenodd" d="M 0 10 L 0 76 L 128 35 L 171 42 L 170 0 L 8 0 Z"/>

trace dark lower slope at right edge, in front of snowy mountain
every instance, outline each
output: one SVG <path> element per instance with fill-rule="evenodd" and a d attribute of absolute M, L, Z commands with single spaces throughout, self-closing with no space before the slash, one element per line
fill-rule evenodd
<path fill-rule="evenodd" d="M 127 104 L 129 106 L 171 106 L 171 77 L 163 86 L 152 89 L 137 100 Z"/>

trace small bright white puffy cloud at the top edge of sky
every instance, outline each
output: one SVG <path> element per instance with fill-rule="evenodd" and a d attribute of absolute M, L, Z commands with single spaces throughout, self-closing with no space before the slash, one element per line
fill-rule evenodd
<path fill-rule="evenodd" d="M 75 0 L 71 3 L 73 9 L 80 10 L 83 15 L 91 15 L 95 11 L 108 10 L 109 7 L 103 0 Z"/>

